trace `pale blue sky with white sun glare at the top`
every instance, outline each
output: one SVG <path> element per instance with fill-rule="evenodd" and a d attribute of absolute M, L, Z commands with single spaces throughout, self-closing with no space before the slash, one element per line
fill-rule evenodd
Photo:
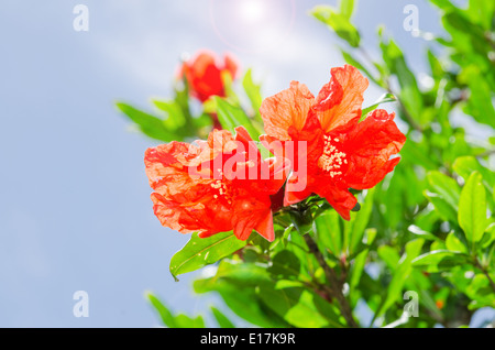
<path fill-rule="evenodd" d="M 176 311 L 218 303 L 193 294 L 198 273 L 169 275 L 188 238 L 153 216 L 143 154 L 156 143 L 130 132 L 114 102 L 150 109 L 170 96 L 182 54 L 204 47 L 253 67 L 265 96 L 290 80 L 317 94 L 343 64 L 334 35 L 307 14 L 324 1 L 271 0 L 248 15 L 242 2 L 2 1 L 0 327 L 153 327 L 148 289 Z M 73 29 L 78 3 L 89 32 Z M 384 23 L 420 76 L 425 42 L 403 29 L 408 3 L 421 30 L 438 32 L 426 1 L 361 1 L 355 22 L 372 54 Z M 371 87 L 365 105 L 382 94 Z M 76 291 L 89 294 L 88 318 L 73 316 Z"/>

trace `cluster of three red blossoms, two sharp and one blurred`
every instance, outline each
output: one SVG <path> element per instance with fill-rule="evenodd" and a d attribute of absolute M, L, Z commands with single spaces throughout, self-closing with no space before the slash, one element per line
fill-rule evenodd
<path fill-rule="evenodd" d="M 234 77 L 237 66 L 228 56 L 219 66 L 211 54 L 201 53 L 184 64 L 183 73 L 191 95 L 206 101 L 224 96 L 221 72 Z M 199 231 L 205 238 L 233 230 L 246 240 L 255 230 L 273 241 L 277 198 L 290 206 L 319 195 L 350 220 L 356 198 L 349 189 L 377 185 L 397 165 L 393 156 L 406 142 L 394 113 L 376 109 L 360 121 L 367 86 L 356 68 L 345 65 L 331 69 L 317 97 L 293 81 L 265 99 L 260 112 L 266 134 L 260 140 L 274 154 L 267 160 L 242 125 L 235 135 L 215 129 L 207 141 L 146 150 L 155 215 L 182 233 Z"/>

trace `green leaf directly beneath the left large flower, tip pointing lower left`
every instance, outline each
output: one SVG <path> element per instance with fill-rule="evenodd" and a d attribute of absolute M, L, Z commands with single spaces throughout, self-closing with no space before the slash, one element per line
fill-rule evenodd
<path fill-rule="evenodd" d="M 246 242 L 239 240 L 233 232 L 217 233 L 199 238 L 193 233 L 186 245 L 170 260 L 170 273 L 174 277 L 216 263 L 241 248 Z"/>

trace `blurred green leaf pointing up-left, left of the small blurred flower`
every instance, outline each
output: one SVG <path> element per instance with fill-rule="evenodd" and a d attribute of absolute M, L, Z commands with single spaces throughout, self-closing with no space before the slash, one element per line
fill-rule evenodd
<path fill-rule="evenodd" d="M 162 119 L 145 113 L 127 103 L 119 102 L 117 107 L 136 123 L 140 130 L 147 136 L 165 142 L 175 140 L 175 135 L 165 128 Z"/>

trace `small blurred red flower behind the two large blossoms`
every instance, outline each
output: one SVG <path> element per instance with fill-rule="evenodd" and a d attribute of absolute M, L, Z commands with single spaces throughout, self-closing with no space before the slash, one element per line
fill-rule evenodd
<path fill-rule="evenodd" d="M 183 64 L 180 76 L 186 77 L 191 95 L 205 102 L 211 96 L 226 96 L 223 72 L 229 72 L 232 79 L 235 78 L 238 64 L 230 55 L 224 55 L 220 63 L 213 53 L 201 51 Z"/>

